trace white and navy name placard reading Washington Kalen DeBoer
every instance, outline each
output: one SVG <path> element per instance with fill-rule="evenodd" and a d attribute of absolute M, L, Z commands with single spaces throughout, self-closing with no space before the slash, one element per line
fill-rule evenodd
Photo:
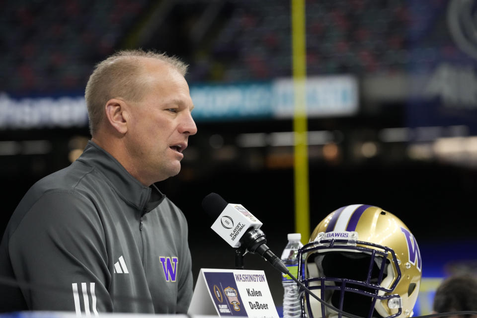
<path fill-rule="evenodd" d="M 202 268 L 188 315 L 278 318 L 262 270 Z"/>

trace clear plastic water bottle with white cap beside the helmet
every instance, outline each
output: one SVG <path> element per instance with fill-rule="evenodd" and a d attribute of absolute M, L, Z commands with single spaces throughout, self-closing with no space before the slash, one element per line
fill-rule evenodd
<path fill-rule="evenodd" d="M 282 253 L 282 261 L 290 273 L 298 278 L 298 249 L 303 246 L 300 233 L 288 235 L 288 243 Z M 301 317 L 300 299 L 298 298 L 298 285 L 289 276 L 282 274 L 283 284 L 283 318 Z"/>

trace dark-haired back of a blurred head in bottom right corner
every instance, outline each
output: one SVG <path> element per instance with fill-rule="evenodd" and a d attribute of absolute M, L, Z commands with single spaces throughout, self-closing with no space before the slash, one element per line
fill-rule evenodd
<path fill-rule="evenodd" d="M 433 303 L 434 313 L 473 311 L 475 315 L 448 316 L 451 318 L 477 318 L 477 277 L 459 273 L 447 277 L 437 288 Z"/>

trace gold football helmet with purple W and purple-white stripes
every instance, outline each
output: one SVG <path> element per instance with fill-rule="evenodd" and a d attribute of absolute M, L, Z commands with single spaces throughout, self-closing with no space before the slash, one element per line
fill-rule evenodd
<path fill-rule="evenodd" d="M 414 236 L 392 213 L 363 204 L 331 212 L 301 248 L 299 260 L 300 267 L 305 265 L 302 283 L 341 311 L 366 318 L 412 316 L 421 254 Z M 309 318 L 342 317 L 302 295 L 302 312 Z"/>

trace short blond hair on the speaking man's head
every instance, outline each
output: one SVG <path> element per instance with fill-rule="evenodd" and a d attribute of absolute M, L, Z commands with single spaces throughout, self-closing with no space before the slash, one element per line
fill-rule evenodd
<path fill-rule="evenodd" d="M 187 73 L 187 64 L 177 57 L 154 51 L 122 50 L 99 62 L 94 67 L 84 92 L 91 136 L 94 136 L 104 118 L 104 106 L 108 100 L 121 96 L 137 102 L 144 97 L 148 89 L 141 78 L 147 71 L 142 63 L 144 58 L 166 62 L 182 76 Z"/>

